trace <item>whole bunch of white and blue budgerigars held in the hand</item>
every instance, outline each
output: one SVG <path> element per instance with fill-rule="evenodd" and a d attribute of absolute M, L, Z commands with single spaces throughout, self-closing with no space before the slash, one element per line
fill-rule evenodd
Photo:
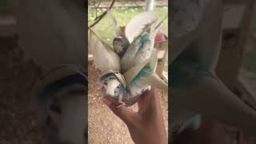
<path fill-rule="evenodd" d="M 158 22 L 153 11 L 146 11 L 132 18 L 126 26 L 118 26 L 110 10 L 107 15 L 114 24 L 113 48 L 92 28 L 89 39 L 94 64 L 102 72 L 99 82 L 103 95 L 131 105 L 130 99 L 137 98 L 150 86 L 167 89 L 166 82 L 155 74 L 158 53 L 154 50 L 154 37 L 166 18 Z"/>

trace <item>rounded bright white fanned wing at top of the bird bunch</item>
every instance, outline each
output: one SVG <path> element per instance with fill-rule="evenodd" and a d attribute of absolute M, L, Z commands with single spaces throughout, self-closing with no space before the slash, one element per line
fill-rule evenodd
<path fill-rule="evenodd" d="M 143 30 L 147 26 L 152 25 L 157 20 L 156 15 L 152 11 L 146 11 L 136 15 L 126 25 L 126 38 L 131 43 L 134 38 L 137 38 L 139 34 L 142 34 Z"/>

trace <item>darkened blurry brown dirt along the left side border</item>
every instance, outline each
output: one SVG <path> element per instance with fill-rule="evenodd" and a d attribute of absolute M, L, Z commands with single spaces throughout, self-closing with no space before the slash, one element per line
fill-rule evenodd
<path fill-rule="evenodd" d="M 17 35 L 0 38 L 0 143 L 45 143 L 37 117 L 28 111 L 39 69 L 22 60 L 17 40 Z"/>

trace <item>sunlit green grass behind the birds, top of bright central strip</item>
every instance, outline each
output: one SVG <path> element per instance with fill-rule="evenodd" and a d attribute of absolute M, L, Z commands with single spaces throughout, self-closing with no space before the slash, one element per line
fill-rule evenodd
<path fill-rule="evenodd" d="M 102 14 L 105 10 L 98 10 L 98 15 Z M 159 6 L 155 7 L 154 11 L 158 15 L 159 19 L 162 19 L 168 14 L 168 7 L 167 6 Z M 117 19 L 118 25 L 125 26 L 127 22 L 130 21 L 135 15 L 140 14 L 143 12 L 142 7 L 123 7 L 123 8 L 114 8 L 111 13 Z M 95 18 L 95 10 L 89 9 L 88 10 L 88 22 L 89 25 L 94 22 Z M 112 40 L 114 39 L 114 26 L 112 25 L 110 18 L 107 16 L 102 18 L 101 22 L 98 22 L 96 26 L 94 26 L 94 30 L 99 34 L 99 36 L 106 41 L 110 46 L 112 46 Z M 168 35 L 168 19 L 164 22 L 162 26 L 163 32 Z"/>

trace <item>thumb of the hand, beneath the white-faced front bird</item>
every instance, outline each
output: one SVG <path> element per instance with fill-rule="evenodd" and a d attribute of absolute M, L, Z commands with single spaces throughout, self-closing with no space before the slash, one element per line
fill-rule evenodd
<path fill-rule="evenodd" d="M 115 115 L 121 118 L 122 121 L 126 123 L 126 125 L 133 123 L 134 116 L 136 115 L 133 110 L 130 110 L 124 105 L 120 106 L 120 102 L 114 100 L 113 98 L 105 97 L 102 99 L 102 102 L 104 102 Z"/>

